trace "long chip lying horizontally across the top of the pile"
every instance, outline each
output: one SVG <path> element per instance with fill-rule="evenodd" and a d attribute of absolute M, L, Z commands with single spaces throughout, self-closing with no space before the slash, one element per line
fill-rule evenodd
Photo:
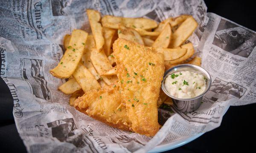
<path fill-rule="evenodd" d="M 145 18 L 114 17 L 111 15 L 106 15 L 102 17 L 101 22 L 102 26 L 114 29 L 118 29 L 119 26 L 143 29 L 152 29 L 157 27 L 156 21 Z"/>

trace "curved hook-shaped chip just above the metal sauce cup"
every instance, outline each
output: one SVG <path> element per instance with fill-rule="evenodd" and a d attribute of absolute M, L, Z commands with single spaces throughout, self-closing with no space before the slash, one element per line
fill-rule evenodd
<path fill-rule="evenodd" d="M 178 59 L 171 60 L 171 61 L 166 61 L 166 62 L 169 63 L 169 64 L 181 63 L 181 62 L 184 62 L 186 59 L 189 59 L 190 57 L 192 57 L 193 54 L 195 53 L 195 50 L 194 50 L 193 45 L 192 45 L 191 42 L 189 42 L 187 44 L 184 44 L 184 45 L 181 45 L 181 48 L 186 48 L 187 49 L 187 52 L 184 56 L 182 56 Z"/>

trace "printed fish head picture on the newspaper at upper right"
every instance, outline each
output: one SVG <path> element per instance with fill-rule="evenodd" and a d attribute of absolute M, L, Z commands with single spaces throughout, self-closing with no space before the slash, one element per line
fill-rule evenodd
<path fill-rule="evenodd" d="M 256 34 L 221 19 L 212 44 L 234 55 L 248 57 L 256 46 Z"/>

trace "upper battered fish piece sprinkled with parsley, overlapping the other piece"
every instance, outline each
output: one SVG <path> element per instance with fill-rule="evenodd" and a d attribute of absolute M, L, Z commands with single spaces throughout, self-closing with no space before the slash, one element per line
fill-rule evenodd
<path fill-rule="evenodd" d="M 131 128 L 154 136 L 159 130 L 157 99 L 164 74 L 163 54 L 120 38 L 113 43 L 113 52 L 121 99 L 126 103 Z"/>

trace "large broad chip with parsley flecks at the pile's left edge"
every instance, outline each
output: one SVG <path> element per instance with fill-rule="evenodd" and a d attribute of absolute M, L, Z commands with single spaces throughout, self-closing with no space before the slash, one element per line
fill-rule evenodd
<path fill-rule="evenodd" d="M 82 30 L 73 30 L 69 42 L 69 46 L 65 51 L 65 54 L 61 58 L 58 65 L 50 70 L 50 73 L 57 78 L 64 79 L 69 78 L 76 70 L 83 52 L 84 45 L 87 40 L 87 32 Z"/>

